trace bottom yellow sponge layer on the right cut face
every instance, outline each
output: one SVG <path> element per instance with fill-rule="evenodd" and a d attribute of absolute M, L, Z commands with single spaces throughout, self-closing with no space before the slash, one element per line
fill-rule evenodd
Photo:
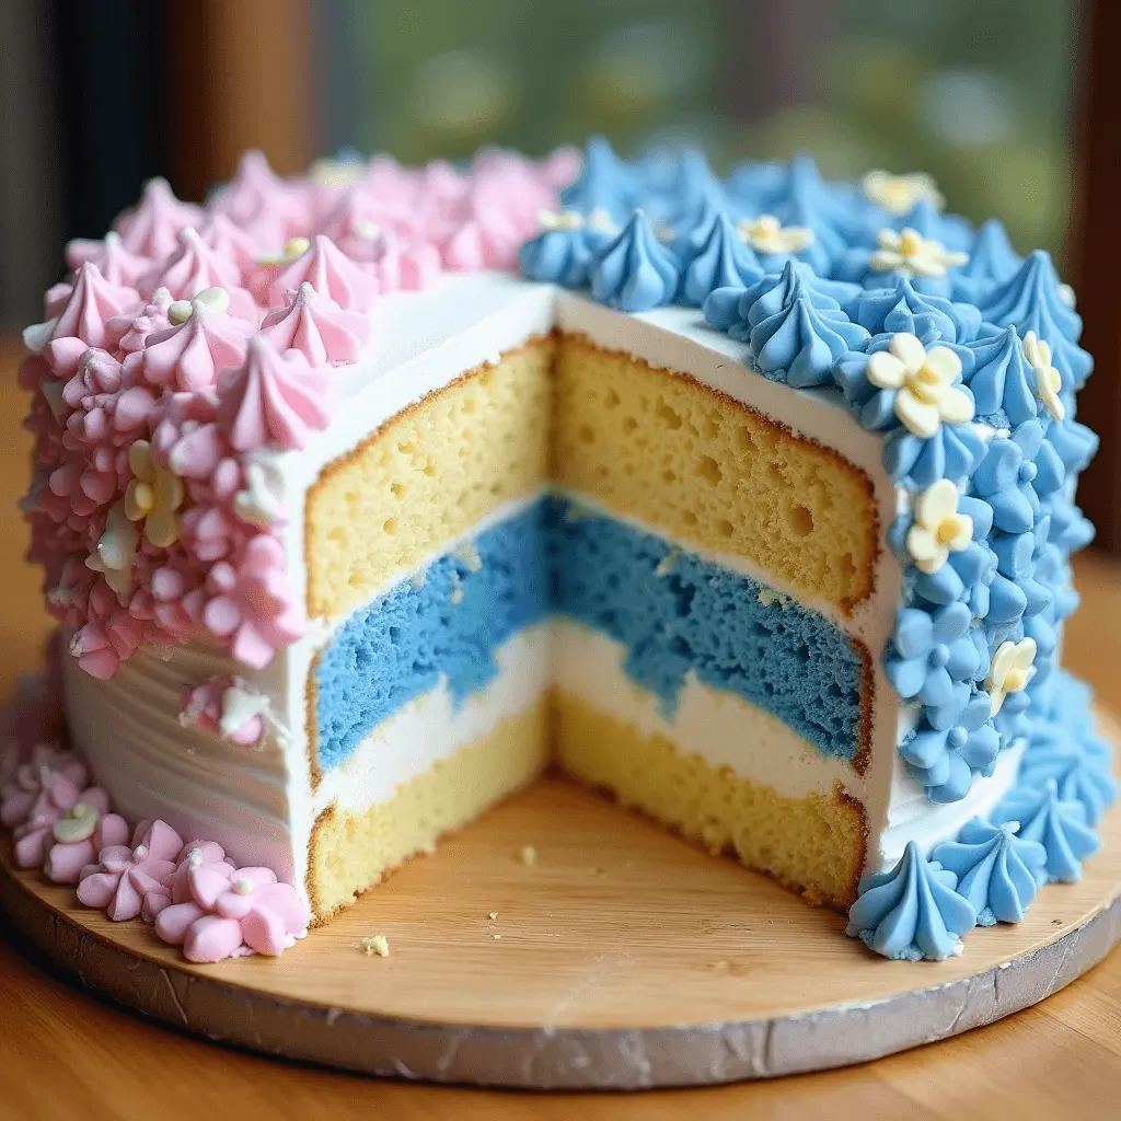
<path fill-rule="evenodd" d="M 713 770 L 660 735 L 554 694 L 555 749 L 565 770 L 605 787 L 714 853 L 769 872 L 809 902 L 847 908 L 856 897 L 867 827 L 862 807 L 840 789 L 784 798 L 770 787 Z"/>

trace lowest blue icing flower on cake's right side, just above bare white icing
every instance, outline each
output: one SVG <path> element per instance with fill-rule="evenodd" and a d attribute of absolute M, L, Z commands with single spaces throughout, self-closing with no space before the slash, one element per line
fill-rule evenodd
<path fill-rule="evenodd" d="M 974 693 L 952 728 L 939 730 L 923 721 L 899 745 L 908 773 L 932 802 L 960 802 L 970 793 L 974 775 L 992 773 L 1001 740 L 990 707 L 986 693 Z"/>

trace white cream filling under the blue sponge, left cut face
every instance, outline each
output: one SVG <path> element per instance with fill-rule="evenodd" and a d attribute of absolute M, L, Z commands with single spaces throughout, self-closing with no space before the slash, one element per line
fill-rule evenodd
<path fill-rule="evenodd" d="M 549 629 L 527 628 L 494 651 L 498 675 L 456 705 L 446 678 L 383 720 L 354 752 L 323 776 L 318 809 L 337 800 L 359 813 L 388 802 L 397 788 L 481 740 L 508 716 L 526 712 L 548 688 Z"/>

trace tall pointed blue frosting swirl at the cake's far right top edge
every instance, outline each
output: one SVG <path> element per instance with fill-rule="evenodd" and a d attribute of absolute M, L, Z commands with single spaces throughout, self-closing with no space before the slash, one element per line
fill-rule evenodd
<path fill-rule="evenodd" d="M 1064 388 L 1081 389 L 1094 360 L 1077 345 L 1082 318 L 1064 300 L 1060 288 L 1050 257 L 1037 249 L 992 290 L 981 313 L 989 323 L 1015 326 L 1021 339 L 1035 332 L 1037 339 L 1050 344 Z"/>

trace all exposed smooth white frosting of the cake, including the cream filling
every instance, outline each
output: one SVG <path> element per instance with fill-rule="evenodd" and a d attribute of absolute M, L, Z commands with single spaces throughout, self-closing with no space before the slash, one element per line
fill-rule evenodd
<path fill-rule="evenodd" d="M 371 324 L 368 354 L 334 373 L 336 404 L 328 428 L 314 434 L 299 452 L 258 453 L 254 463 L 260 472 L 253 473 L 240 499 L 262 522 L 284 508 L 287 566 L 300 600 L 306 594 L 304 501 L 322 469 L 351 452 L 401 409 L 466 370 L 499 361 L 503 353 L 554 326 L 585 334 L 600 345 L 631 353 L 655 368 L 687 372 L 795 434 L 836 450 L 872 481 L 881 535 L 899 509 L 899 493 L 881 465 L 881 438 L 860 427 L 842 407 L 837 392 L 793 390 L 752 373 L 743 365 L 744 344 L 708 327 L 697 309 L 669 307 L 628 315 L 517 277 L 461 274 L 444 276 L 421 293 L 382 298 L 371 313 Z M 494 511 L 493 518 L 509 512 Z M 703 552 L 689 543 L 683 546 Z M 711 558 L 761 580 L 776 594 L 793 594 L 793 589 L 742 559 Z M 953 833 L 976 812 L 978 805 L 988 805 L 985 798 L 999 797 L 1016 769 L 1015 758 L 1007 754 L 997 775 L 980 782 L 969 798 L 954 807 L 932 806 L 921 791 L 916 802 L 917 788 L 914 784 L 908 787 L 906 775 L 897 773 L 896 748 L 910 717 L 883 674 L 880 654 L 893 626 L 899 587 L 898 564 L 884 549 L 873 594 L 850 618 L 839 618 L 828 604 L 813 604 L 858 637 L 871 655 L 871 762 L 861 779 L 849 768 L 845 780 L 846 788 L 865 807 L 870 868 L 884 852 L 900 849 L 908 836 L 923 837 L 927 843 L 932 831 Z M 315 791 L 307 743 L 306 688 L 313 659 L 330 639 L 333 622 L 337 621 L 313 621 L 302 640 L 279 652 L 260 671 L 250 671 L 200 645 L 173 650 L 166 658 L 142 652 L 110 682 L 87 677 L 76 665 L 70 665 L 68 707 L 75 738 L 117 805 L 133 817 L 164 816 L 185 834 L 213 837 L 240 861 L 269 864 L 302 889 L 311 830 L 316 814 L 332 797 L 354 808 L 376 804 L 397 784 L 430 766 L 432 760 L 484 734 L 480 730 L 492 728 L 502 715 L 521 711 L 540 685 L 543 656 L 534 645 L 537 640 L 526 639 L 532 654 L 525 658 L 515 657 L 520 649 L 515 643 L 520 640 L 513 640 L 502 655 L 510 659 L 509 664 L 503 661 L 503 671 L 478 697 L 455 711 L 446 687 L 441 686 L 372 733 L 339 773 L 324 776 Z M 602 649 L 595 657 L 601 655 Z M 695 683 L 686 687 L 678 719 L 667 730 L 657 723 L 661 717 L 651 710 L 652 701 L 636 697 L 629 683 L 622 687 L 618 664 L 615 678 L 604 677 L 602 682 L 589 679 L 584 669 L 564 656 L 556 666 L 562 675 L 577 675 L 573 679 L 589 700 L 601 695 L 593 692 L 593 686 L 602 691 L 610 683 L 617 702 L 628 706 L 626 713 L 617 710 L 619 715 L 632 719 L 640 728 L 657 728 L 676 736 L 674 742 L 687 750 L 708 751 L 706 758 L 719 760 L 719 765 L 726 763 L 742 773 L 756 768 L 752 777 L 758 773 L 777 789 L 827 789 L 835 776 L 831 768 L 846 766 L 816 752 L 816 760 L 805 756 L 802 745 L 794 742 L 797 738 L 791 740 L 793 733 L 785 725 L 772 726 L 778 722 L 763 719 L 766 714 L 752 720 L 752 749 L 742 750 L 743 726 L 740 724 L 739 736 L 733 726 L 742 716 L 742 703 L 705 696 L 707 691 L 701 691 Z M 240 749 L 217 736 L 179 726 L 180 686 L 229 673 L 239 674 L 248 687 L 268 701 L 275 735 L 269 736 L 265 751 Z M 772 761 L 784 762 L 776 763 L 765 776 L 767 754 Z"/>

